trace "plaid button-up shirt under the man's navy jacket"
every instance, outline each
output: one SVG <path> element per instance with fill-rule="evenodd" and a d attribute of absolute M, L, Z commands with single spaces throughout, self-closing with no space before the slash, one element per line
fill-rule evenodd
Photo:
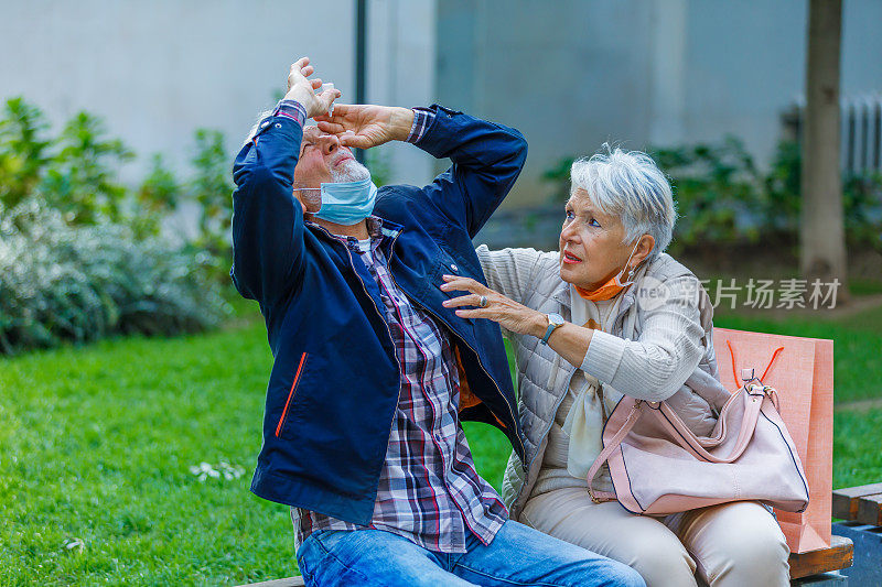
<path fill-rule="evenodd" d="M 467 532 L 490 544 L 508 512 L 475 471 L 460 426 L 459 372 L 448 334 L 392 281 L 380 244 L 394 235 L 383 229 L 379 218 L 370 217 L 368 228 L 366 250 L 352 237 L 338 238 L 353 257 L 361 257 L 379 285 L 401 366 L 386 463 L 368 525 L 291 508 L 297 546 L 315 530 L 362 529 L 392 532 L 445 553 L 465 552 Z"/>

